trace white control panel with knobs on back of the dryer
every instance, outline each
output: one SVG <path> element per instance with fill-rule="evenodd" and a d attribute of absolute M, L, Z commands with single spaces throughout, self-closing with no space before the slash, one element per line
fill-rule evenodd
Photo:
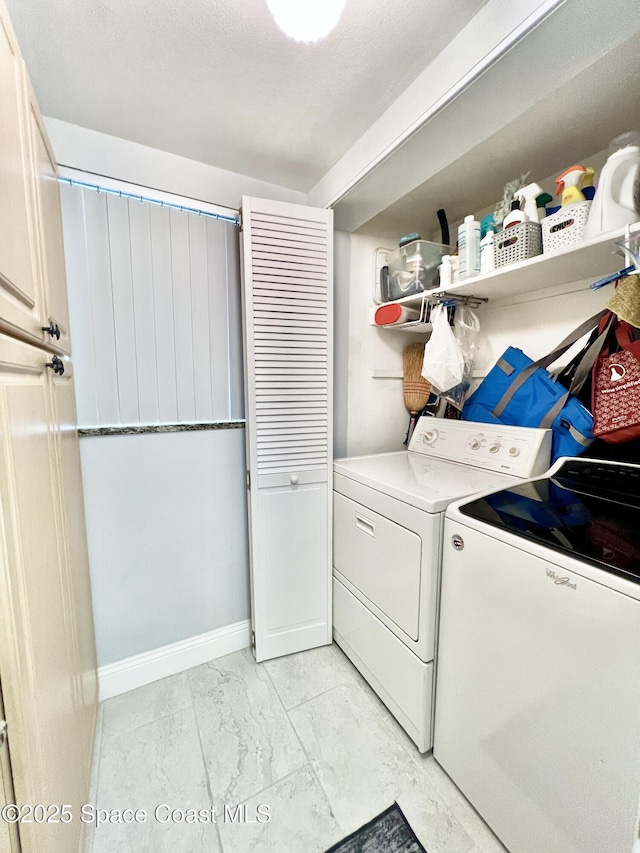
<path fill-rule="evenodd" d="M 549 467 L 551 430 L 423 416 L 409 450 L 517 477 L 535 477 Z"/>

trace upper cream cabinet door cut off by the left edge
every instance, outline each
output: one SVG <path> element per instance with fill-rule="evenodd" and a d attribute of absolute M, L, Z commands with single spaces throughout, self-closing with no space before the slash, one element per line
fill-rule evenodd
<path fill-rule="evenodd" d="M 24 66 L 0 5 L 0 328 L 41 340 Z"/>

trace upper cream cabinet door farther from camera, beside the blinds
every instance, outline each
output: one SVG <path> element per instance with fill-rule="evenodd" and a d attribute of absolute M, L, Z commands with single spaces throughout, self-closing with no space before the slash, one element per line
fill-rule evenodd
<path fill-rule="evenodd" d="M 39 263 L 42 291 L 44 294 L 43 325 L 57 327 L 60 336 L 44 332 L 43 340 L 63 352 L 71 352 L 69 341 L 69 305 L 67 301 L 67 278 L 64 264 L 62 237 L 62 213 L 60 209 L 60 187 L 55 159 L 49 145 L 40 110 L 27 81 L 30 141 L 32 146 L 32 172 L 34 175 L 35 209 L 37 211 L 37 233 L 40 248 Z"/>

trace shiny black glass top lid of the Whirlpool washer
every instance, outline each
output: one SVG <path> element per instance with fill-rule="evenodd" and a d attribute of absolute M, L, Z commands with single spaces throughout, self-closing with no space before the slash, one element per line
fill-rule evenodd
<path fill-rule="evenodd" d="M 640 465 L 570 459 L 460 512 L 640 583 Z"/>

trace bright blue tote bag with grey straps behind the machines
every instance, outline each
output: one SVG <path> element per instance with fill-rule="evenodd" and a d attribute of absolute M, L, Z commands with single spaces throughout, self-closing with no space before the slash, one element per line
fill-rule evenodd
<path fill-rule="evenodd" d="M 593 441 L 593 417 L 574 394 L 591 372 L 609 326 L 581 353 L 569 388 L 558 382 L 547 368 L 580 338 L 596 329 L 606 313 L 600 311 L 585 320 L 537 361 L 522 350 L 509 347 L 465 403 L 463 419 L 550 429 L 552 462 L 560 456 L 583 453 Z"/>

